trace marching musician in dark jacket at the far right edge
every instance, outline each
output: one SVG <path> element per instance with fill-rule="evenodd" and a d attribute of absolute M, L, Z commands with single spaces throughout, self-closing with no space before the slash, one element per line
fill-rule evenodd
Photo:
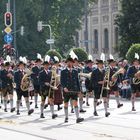
<path fill-rule="evenodd" d="M 132 111 L 136 111 L 135 109 L 135 100 L 136 100 L 136 94 L 138 92 L 140 92 L 140 83 L 134 83 L 134 78 L 138 78 L 139 76 L 136 74 L 138 71 L 140 71 L 140 66 L 139 66 L 139 60 L 137 58 L 135 58 L 133 60 L 133 64 L 132 66 L 130 66 L 128 68 L 127 71 L 127 78 L 130 81 L 131 84 L 131 90 L 132 90 L 132 94 L 131 94 L 131 102 L 132 102 Z"/>

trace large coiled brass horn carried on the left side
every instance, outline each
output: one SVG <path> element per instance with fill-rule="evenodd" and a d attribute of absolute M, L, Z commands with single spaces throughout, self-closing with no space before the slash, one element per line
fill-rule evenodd
<path fill-rule="evenodd" d="M 25 69 L 25 73 L 26 74 L 23 76 L 20 85 L 22 91 L 28 91 L 31 82 L 30 75 L 32 74 L 32 71 L 29 69 Z"/>

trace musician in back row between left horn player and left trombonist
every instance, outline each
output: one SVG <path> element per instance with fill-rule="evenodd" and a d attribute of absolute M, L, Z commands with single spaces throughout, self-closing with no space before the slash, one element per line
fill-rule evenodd
<path fill-rule="evenodd" d="M 35 66 L 32 68 L 31 78 L 33 80 L 34 86 L 34 101 L 35 101 L 35 108 L 38 108 L 37 101 L 38 101 L 38 94 L 40 92 L 40 85 L 39 85 L 39 72 L 41 71 L 41 63 L 42 60 L 37 58 L 35 61 Z"/>

